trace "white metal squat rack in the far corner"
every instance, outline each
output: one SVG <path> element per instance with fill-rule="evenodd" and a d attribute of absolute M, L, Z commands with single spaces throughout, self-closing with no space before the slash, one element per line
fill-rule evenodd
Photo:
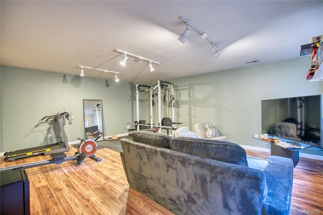
<path fill-rule="evenodd" d="M 146 89 L 141 89 L 141 87 L 144 87 Z M 158 83 L 156 85 L 152 86 L 147 86 L 147 85 L 136 85 L 136 110 L 137 110 L 137 122 L 139 122 L 139 94 L 140 92 L 150 92 L 150 128 L 157 127 L 158 132 L 161 133 L 161 129 L 166 128 L 166 129 L 172 129 L 173 135 L 174 135 L 174 127 L 173 123 L 167 122 L 167 124 L 171 124 L 170 126 L 166 126 L 164 122 L 166 118 L 161 119 L 161 93 L 165 92 L 165 102 L 167 107 L 171 106 L 172 107 L 172 119 L 171 121 L 174 122 L 175 119 L 175 97 L 174 97 L 174 83 L 173 82 L 168 82 L 168 81 L 161 81 L 158 80 Z M 156 91 L 158 95 L 158 126 L 153 125 L 153 92 Z M 170 101 L 171 99 L 171 101 Z M 169 110 L 167 108 L 167 115 Z M 175 124 L 175 123 L 174 123 Z M 136 124 L 140 125 L 140 124 Z M 137 130 L 139 130 L 139 126 L 137 126 Z"/>

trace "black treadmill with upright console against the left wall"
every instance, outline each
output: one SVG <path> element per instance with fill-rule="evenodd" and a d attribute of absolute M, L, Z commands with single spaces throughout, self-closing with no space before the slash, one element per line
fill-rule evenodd
<path fill-rule="evenodd" d="M 45 122 L 47 122 L 48 120 L 53 120 L 53 128 L 57 133 L 59 142 L 48 144 L 48 145 L 32 147 L 32 148 L 7 151 L 4 154 L 5 155 L 4 161 L 6 160 L 14 161 L 15 159 L 29 157 L 33 155 L 40 155 L 40 154 L 48 155 L 51 153 L 69 151 L 70 148 L 64 131 L 65 117 L 68 117 L 69 114 L 70 114 L 69 112 L 66 112 L 63 114 L 46 116 L 41 119 L 42 121 L 46 119 Z"/>

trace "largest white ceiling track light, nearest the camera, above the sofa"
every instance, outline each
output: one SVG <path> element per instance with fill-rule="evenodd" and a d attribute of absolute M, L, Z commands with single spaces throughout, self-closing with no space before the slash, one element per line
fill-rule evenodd
<path fill-rule="evenodd" d="M 185 23 L 186 25 L 186 29 L 185 31 L 178 37 L 178 40 L 180 40 L 181 42 L 185 43 L 186 38 L 188 33 L 190 32 L 190 30 L 188 29 L 188 27 L 190 27 L 191 29 L 193 29 L 201 38 L 206 39 L 209 43 L 212 44 L 212 48 L 211 50 L 214 52 L 214 57 L 218 57 L 221 52 L 219 50 L 216 50 L 214 48 L 214 46 L 217 46 L 218 48 L 220 47 L 216 42 L 214 42 L 211 38 L 208 37 L 208 34 L 205 32 L 202 32 L 201 30 L 199 30 L 198 28 L 196 28 L 193 24 L 191 24 L 190 22 L 188 22 L 184 17 L 179 17 L 179 19 Z"/>

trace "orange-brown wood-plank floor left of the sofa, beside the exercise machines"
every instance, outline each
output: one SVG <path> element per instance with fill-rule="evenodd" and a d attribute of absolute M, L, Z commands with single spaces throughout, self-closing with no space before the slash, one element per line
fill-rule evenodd
<path fill-rule="evenodd" d="M 70 147 L 68 156 L 76 149 Z M 119 152 L 108 148 L 95 153 L 102 160 L 85 158 L 79 167 L 75 161 L 26 169 L 30 183 L 31 214 L 172 214 L 157 203 L 129 188 Z M 50 159 L 34 156 L 0 167 Z M 3 157 L 2 159 L 3 160 Z"/>

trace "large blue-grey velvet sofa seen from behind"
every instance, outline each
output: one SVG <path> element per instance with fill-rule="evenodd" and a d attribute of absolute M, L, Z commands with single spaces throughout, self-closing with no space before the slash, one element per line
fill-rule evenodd
<path fill-rule="evenodd" d="M 146 131 L 121 144 L 129 186 L 175 214 L 290 212 L 290 158 L 255 158 L 261 168 L 251 168 L 238 144 Z"/>

